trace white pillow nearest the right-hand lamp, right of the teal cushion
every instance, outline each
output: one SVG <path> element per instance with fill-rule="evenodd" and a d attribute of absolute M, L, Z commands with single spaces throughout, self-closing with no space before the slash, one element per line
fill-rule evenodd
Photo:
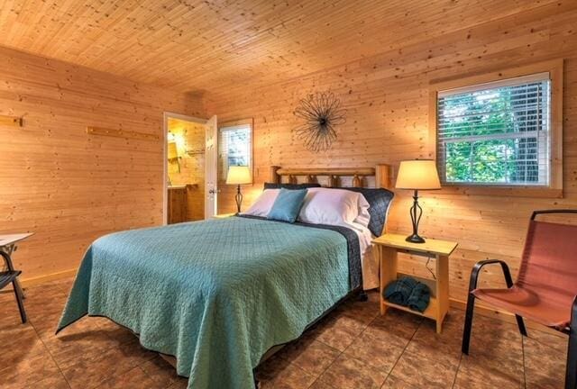
<path fill-rule="evenodd" d="M 298 220 L 313 224 L 369 225 L 369 203 L 363 195 L 346 189 L 308 188 Z"/>

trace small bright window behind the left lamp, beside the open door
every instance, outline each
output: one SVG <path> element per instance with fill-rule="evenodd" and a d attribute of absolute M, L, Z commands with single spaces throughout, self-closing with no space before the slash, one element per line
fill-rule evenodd
<path fill-rule="evenodd" d="M 218 130 L 219 177 L 228 167 L 252 167 L 252 120 L 223 123 Z"/>

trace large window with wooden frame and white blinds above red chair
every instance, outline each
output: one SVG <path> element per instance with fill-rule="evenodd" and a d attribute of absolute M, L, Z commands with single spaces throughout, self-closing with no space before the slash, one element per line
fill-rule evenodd
<path fill-rule="evenodd" d="M 561 188 L 561 153 L 554 147 L 561 142 L 560 107 L 554 106 L 561 104 L 554 95 L 558 69 L 499 76 L 436 86 L 435 151 L 442 183 Z"/>

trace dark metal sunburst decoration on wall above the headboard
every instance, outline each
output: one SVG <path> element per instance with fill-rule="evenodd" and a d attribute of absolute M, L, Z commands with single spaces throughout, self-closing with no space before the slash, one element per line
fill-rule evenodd
<path fill-rule="evenodd" d="M 341 101 L 331 92 L 307 95 L 295 110 L 295 116 L 305 121 L 296 130 L 298 138 L 305 140 L 311 151 L 330 149 L 336 140 L 335 126 L 346 122 L 345 113 Z"/>

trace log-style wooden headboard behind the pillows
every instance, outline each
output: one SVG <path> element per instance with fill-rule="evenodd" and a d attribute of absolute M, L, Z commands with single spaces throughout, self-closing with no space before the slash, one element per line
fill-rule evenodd
<path fill-rule="evenodd" d="M 283 180 L 282 177 L 287 179 Z M 274 184 L 289 183 L 297 184 L 298 176 L 304 176 L 306 183 L 316 183 L 318 176 L 328 178 L 328 186 L 340 186 L 341 177 L 353 177 L 352 186 L 362 187 L 367 185 L 367 178 L 374 176 L 375 187 L 391 189 L 390 166 L 377 165 L 376 167 L 327 167 L 327 168 L 288 168 L 270 167 L 270 182 Z"/>

